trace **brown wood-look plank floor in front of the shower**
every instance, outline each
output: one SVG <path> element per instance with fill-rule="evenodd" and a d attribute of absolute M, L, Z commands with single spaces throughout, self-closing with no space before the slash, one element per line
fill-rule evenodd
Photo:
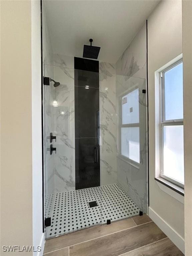
<path fill-rule="evenodd" d="M 45 256 L 184 256 L 148 215 L 46 241 Z"/>

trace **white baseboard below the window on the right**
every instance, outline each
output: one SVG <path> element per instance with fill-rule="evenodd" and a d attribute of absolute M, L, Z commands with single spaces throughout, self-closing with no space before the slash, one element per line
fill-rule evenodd
<path fill-rule="evenodd" d="M 185 240 L 167 222 L 165 222 L 151 207 L 149 217 L 165 233 L 165 235 L 185 254 Z"/>

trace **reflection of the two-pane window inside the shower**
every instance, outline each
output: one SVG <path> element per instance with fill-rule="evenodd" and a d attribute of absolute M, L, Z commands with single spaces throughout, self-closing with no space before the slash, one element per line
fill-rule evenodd
<path fill-rule="evenodd" d="M 139 89 L 124 95 L 121 106 L 121 156 L 139 163 Z"/>

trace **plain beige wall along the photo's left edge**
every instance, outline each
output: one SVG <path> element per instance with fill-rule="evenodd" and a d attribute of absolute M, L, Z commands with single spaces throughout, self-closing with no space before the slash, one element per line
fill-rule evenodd
<path fill-rule="evenodd" d="M 31 2 L 0 4 L 1 246 L 30 246 L 33 242 Z"/>

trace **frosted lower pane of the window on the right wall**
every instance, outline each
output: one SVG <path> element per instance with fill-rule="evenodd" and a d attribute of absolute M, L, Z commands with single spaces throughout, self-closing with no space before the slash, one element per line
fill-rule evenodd
<path fill-rule="evenodd" d="M 183 125 L 164 126 L 163 174 L 184 183 Z"/>

